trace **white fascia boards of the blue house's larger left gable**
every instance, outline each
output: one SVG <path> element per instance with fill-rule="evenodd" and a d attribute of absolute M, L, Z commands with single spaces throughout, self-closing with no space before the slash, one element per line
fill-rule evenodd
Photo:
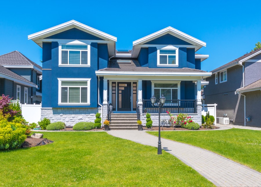
<path fill-rule="evenodd" d="M 75 21 L 75 20 L 71 20 L 71 21 L 65 22 L 63 24 L 60 24 L 60 25 L 39 31 L 39 32 L 31 34 L 31 35 L 28 35 L 28 39 L 35 40 L 36 38 L 37 39 L 41 38 L 41 36 L 43 36 L 43 35 L 44 35 L 44 37 L 48 37 L 48 34 L 54 35 L 54 34 L 63 32 L 65 30 L 68 30 L 70 28 L 74 28 L 74 27 L 79 28 L 79 29 L 81 29 L 81 30 L 83 30 L 87 33 L 97 35 L 97 36 L 99 36 L 103 39 L 112 40 L 112 41 L 115 41 L 115 42 L 117 41 L 116 37 L 109 35 L 107 33 L 104 33 L 100 30 L 95 29 L 95 28 L 84 25 L 84 24 L 82 24 L 78 21 Z"/>

